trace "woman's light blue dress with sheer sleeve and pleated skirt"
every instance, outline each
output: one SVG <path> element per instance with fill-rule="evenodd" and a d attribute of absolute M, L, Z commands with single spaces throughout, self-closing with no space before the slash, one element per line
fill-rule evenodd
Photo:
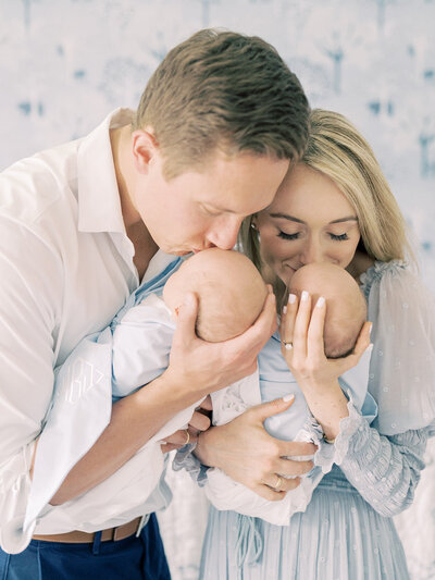
<path fill-rule="evenodd" d="M 211 508 L 200 579 L 409 580 L 391 516 L 411 504 L 435 431 L 434 301 L 400 262 L 376 262 L 361 281 L 376 428 L 349 402 L 335 444 L 314 459 L 335 465 L 289 526 Z"/>

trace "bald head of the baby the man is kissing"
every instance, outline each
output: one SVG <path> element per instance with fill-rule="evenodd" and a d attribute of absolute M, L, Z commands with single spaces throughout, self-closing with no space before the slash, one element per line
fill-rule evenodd
<path fill-rule="evenodd" d="M 188 258 L 172 274 L 163 299 L 176 312 L 187 293 L 199 299 L 198 336 L 217 343 L 241 334 L 257 320 L 268 288 L 249 258 L 238 251 L 210 248 Z"/>

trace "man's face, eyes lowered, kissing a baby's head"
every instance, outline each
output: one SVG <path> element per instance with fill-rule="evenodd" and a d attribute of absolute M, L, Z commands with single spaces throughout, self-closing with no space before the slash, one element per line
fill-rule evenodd
<path fill-rule="evenodd" d="M 163 161 L 154 152 L 132 200 L 157 245 L 179 256 L 231 249 L 243 219 L 272 202 L 288 169 L 288 160 L 216 151 L 203 168 L 166 181 Z"/>

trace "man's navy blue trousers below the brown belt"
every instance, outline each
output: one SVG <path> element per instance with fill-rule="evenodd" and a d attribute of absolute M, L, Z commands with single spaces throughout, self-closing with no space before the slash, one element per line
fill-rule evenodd
<path fill-rule="evenodd" d="M 117 542 L 65 544 L 32 540 L 21 554 L 0 550 L 0 580 L 171 580 L 154 514 Z"/>

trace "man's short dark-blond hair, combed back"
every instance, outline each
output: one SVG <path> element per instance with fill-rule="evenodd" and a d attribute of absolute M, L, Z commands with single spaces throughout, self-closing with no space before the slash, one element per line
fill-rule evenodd
<path fill-rule="evenodd" d="M 299 159 L 309 104 L 276 50 L 256 36 L 203 29 L 173 48 L 141 96 L 133 128 L 152 127 L 166 178 L 219 147 Z"/>

